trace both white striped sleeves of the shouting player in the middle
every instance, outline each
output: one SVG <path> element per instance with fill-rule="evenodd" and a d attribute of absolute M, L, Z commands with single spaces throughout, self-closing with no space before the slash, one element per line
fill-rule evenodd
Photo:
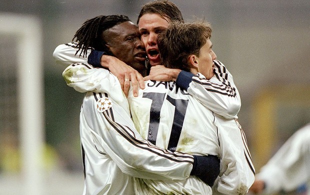
<path fill-rule="evenodd" d="M 77 51 L 76 44 L 73 42 L 58 45 L 53 52 L 56 62 L 66 66 L 71 63 L 87 63 L 86 57 L 90 53 L 90 49 L 87 50 L 87 56 L 85 57 L 79 56 L 79 53 L 75 55 Z M 237 118 L 241 100 L 232 75 L 220 61 L 214 60 L 214 65 L 214 77 L 217 79 L 213 80 L 216 80 L 216 82 L 192 77 L 187 92 L 213 112 L 225 118 Z"/>

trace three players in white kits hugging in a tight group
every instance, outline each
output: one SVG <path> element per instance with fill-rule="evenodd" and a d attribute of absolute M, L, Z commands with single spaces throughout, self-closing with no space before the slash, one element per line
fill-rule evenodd
<path fill-rule="evenodd" d="M 240 97 L 210 25 L 184 23 L 168 0 L 144 4 L 137 25 L 97 16 L 53 53 L 85 92 L 83 194 L 245 194 L 255 170 Z"/>

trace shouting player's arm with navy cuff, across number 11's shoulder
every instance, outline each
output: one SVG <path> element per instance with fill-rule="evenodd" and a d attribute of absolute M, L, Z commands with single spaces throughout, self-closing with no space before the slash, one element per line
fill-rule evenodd
<path fill-rule="evenodd" d="M 217 60 L 214 60 L 214 63 L 214 76 L 210 80 L 198 74 L 169 69 L 162 65 L 151 67 L 149 75 L 144 79 L 176 80 L 178 86 L 186 89 L 208 109 L 226 118 L 236 117 L 241 106 L 239 92 L 226 67 Z"/>

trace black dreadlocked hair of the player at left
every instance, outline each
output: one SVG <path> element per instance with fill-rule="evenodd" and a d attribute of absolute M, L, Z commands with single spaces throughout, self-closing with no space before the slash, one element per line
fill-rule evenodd
<path fill-rule="evenodd" d="M 98 51 L 105 51 L 107 54 L 112 54 L 105 45 L 102 32 L 125 21 L 130 21 L 126 15 L 99 15 L 86 20 L 72 38 L 72 41 L 75 39 L 78 47 L 75 55 L 80 50 L 79 56 L 83 53 L 84 57 L 87 55 L 87 49 L 95 49 Z"/>

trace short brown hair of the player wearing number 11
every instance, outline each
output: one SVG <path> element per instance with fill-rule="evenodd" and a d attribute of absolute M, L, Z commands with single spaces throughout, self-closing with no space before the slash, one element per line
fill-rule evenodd
<path fill-rule="evenodd" d="M 168 68 L 189 71 L 189 55 L 199 56 L 199 50 L 211 37 L 211 32 L 211 26 L 207 22 L 171 22 L 168 28 L 157 36 L 162 64 Z"/>

